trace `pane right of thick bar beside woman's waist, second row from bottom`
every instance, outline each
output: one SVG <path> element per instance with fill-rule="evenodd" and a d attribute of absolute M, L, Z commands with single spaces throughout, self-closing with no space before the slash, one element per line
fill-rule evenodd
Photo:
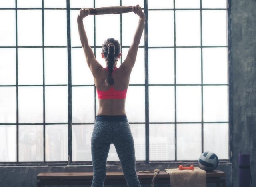
<path fill-rule="evenodd" d="M 174 86 L 149 86 L 149 121 L 174 122 Z"/>

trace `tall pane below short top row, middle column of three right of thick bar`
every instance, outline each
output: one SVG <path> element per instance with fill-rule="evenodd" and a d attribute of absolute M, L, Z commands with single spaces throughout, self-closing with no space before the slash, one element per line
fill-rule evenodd
<path fill-rule="evenodd" d="M 176 11 L 176 46 L 200 46 L 200 32 L 199 10 Z"/>

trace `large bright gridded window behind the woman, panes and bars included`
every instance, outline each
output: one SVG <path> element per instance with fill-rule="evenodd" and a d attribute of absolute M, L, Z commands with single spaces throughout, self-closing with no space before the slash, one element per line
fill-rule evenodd
<path fill-rule="evenodd" d="M 136 4 L 146 14 L 126 97 L 136 161 L 196 161 L 204 151 L 229 159 L 226 0 L 8 0 L 0 1 L 2 165 L 91 163 L 98 97 L 76 17 L 82 7 Z M 104 40 L 120 41 L 120 65 L 137 24 L 133 12 L 84 19 L 102 66 Z M 113 144 L 107 161 L 119 162 Z"/>

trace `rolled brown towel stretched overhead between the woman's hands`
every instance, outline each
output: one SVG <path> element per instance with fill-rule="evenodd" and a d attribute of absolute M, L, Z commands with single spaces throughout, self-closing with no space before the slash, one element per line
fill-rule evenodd
<path fill-rule="evenodd" d="M 101 8 L 89 8 L 90 15 L 122 14 L 132 12 L 132 6 L 107 6 Z"/>

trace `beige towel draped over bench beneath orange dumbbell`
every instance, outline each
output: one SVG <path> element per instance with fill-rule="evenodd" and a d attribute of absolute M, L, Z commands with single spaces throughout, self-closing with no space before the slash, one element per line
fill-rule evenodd
<path fill-rule="evenodd" d="M 206 187 L 206 172 L 199 167 L 193 170 L 165 169 L 170 174 L 171 187 Z"/>

